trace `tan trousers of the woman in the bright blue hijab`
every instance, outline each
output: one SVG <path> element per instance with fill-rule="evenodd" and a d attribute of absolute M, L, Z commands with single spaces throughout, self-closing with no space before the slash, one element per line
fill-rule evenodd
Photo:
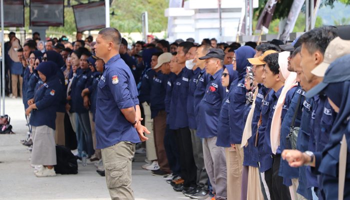
<path fill-rule="evenodd" d="M 227 200 L 240 200 L 240 188 L 242 183 L 243 148 L 240 144 L 225 148 L 227 167 Z"/>

